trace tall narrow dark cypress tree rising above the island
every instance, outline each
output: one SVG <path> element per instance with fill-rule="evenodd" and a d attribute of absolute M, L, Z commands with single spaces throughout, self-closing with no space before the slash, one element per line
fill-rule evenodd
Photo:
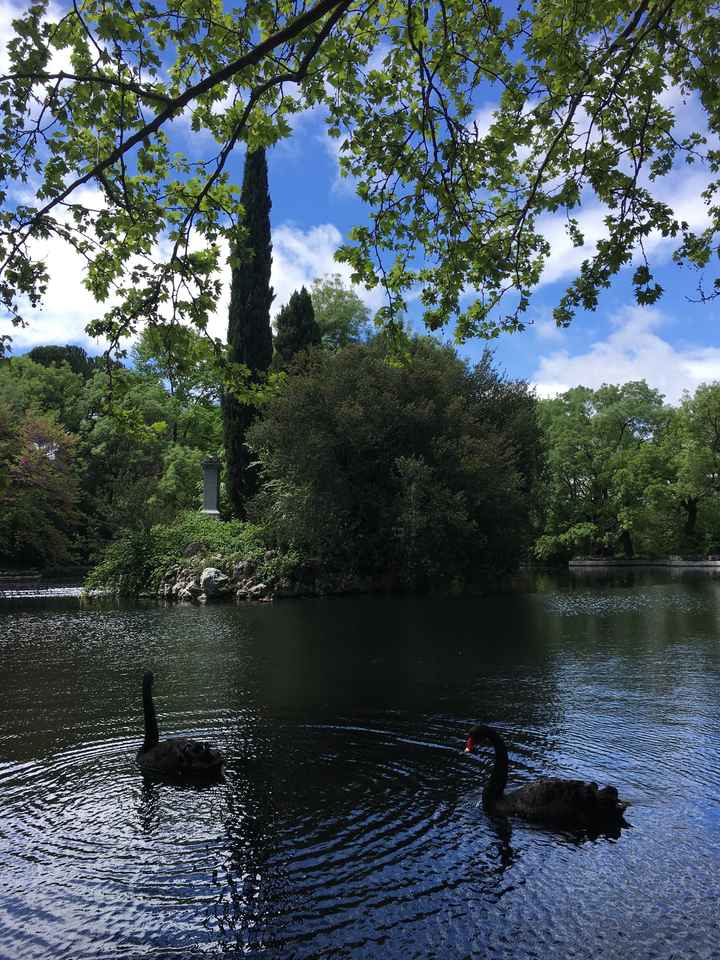
<path fill-rule="evenodd" d="M 248 153 L 241 201 L 245 210 L 243 242 L 234 251 L 241 258 L 233 267 L 228 316 L 228 359 L 243 363 L 254 382 L 262 379 L 272 362 L 270 286 L 272 242 L 270 239 L 270 193 L 268 191 L 265 149 Z M 228 496 L 233 513 L 245 515 L 245 504 L 253 496 L 255 471 L 245 446 L 245 434 L 255 416 L 255 408 L 241 403 L 226 391 L 223 397 L 223 430 L 228 474 Z"/>

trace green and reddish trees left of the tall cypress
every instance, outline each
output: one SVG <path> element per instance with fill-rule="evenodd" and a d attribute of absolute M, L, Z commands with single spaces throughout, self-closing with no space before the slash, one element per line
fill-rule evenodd
<path fill-rule="evenodd" d="M 144 336 L 137 349 L 150 356 Z M 217 403 L 173 395 L 156 364 L 94 369 L 0 363 L 2 564 L 86 563 L 121 531 L 200 502 L 200 462 L 222 443 Z"/>

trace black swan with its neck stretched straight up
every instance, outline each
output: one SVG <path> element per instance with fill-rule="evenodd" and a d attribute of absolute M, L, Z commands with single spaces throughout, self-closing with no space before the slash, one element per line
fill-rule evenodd
<path fill-rule="evenodd" d="M 148 670 L 143 677 L 143 713 L 145 740 L 137 752 L 138 766 L 145 773 L 169 777 L 210 779 L 222 773 L 225 757 L 207 743 L 198 743 L 188 737 L 160 740 L 155 707 L 152 702 L 153 675 Z"/>

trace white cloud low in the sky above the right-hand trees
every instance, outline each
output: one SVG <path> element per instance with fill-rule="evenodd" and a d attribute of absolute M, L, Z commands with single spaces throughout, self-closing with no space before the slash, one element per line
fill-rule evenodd
<path fill-rule="evenodd" d="M 541 356 L 530 379 L 542 397 L 578 385 L 596 389 L 603 383 L 647 380 L 669 403 L 677 403 L 683 390 L 720 380 L 720 348 L 674 346 L 656 332 L 664 322 L 659 310 L 625 307 L 612 318 L 615 329 L 607 339 L 575 356 L 567 350 Z"/>

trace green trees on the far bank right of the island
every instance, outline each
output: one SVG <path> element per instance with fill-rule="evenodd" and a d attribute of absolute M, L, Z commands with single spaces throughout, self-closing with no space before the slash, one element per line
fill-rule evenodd
<path fill-rule="evenodd" d="M 541 559 L 719 552 L 720 384 L 669 407 L 644 381 L 540 403 Z"/>

